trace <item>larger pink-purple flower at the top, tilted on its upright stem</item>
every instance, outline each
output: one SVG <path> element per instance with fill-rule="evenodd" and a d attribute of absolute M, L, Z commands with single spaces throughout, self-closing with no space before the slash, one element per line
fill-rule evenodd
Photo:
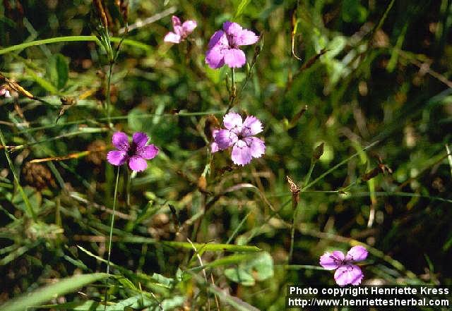
<path fill-rule="evenodd" d="M 210 37 L 206 63 L 213 69 L 220 68 L 225 63 L 230 68 L 240 68 L 246 63 L 246 57 L 239 46 L 254 44 L 258 39 L 251 30 L 227 21 L 223 23 L 223 30 L 218 30 Z"/>

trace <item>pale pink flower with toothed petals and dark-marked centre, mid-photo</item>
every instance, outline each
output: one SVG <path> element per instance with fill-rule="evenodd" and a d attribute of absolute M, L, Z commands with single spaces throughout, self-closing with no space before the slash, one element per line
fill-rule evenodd
<path fill-rule="evenodd" d="M 215 142 L 211 145 L 212 152 L 225 150 L 232 146 L 231 158 L 234 164 L 245 165 L 252 158 L 262 157 L 266 152 L 266 145 L 253 137 L 262 132 L 262 123 L 254 116 L 247 116 L 245 121 L 239 114 L 230 112 L 223 118 L 225 130 L 213 130 Z"/>

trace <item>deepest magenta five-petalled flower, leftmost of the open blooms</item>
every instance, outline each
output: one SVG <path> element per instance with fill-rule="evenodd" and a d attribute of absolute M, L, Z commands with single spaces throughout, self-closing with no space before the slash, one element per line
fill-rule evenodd
<path fill-rule="evenodd" d="M 132 171 L 144 171 L 148 167 L 146 160 L 153 159 L 158 148 L 154 145 L 146 146 L 149 138 L 145 133 L 137 132 L 133 134 L 132 143 L 125 133 L 116 132 L 113 134 L 112 142 L 117 150 L 112 150 L 107 154 L 110 164 L 119 166 L 129 162 Z"/>

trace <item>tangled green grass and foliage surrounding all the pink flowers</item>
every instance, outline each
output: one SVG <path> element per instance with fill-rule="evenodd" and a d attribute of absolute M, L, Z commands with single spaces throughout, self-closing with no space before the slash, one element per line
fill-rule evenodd
<path fill-rule="evenodd" d="M 100 1 L 108 31 L 93 1 L 6 2 L 0 310 L 283 310 L 351 245 L 364 283 L 451 283 L 449 1 Z M 174 14 L 198 26 L 167 44 Z M 261 35 L 235 94 L 205 63 L 225 20 Z M 246 166 L 210 152 L 229 108 L 263 123 Z M 118 130 L 160 152 L 116 183 Z"/>

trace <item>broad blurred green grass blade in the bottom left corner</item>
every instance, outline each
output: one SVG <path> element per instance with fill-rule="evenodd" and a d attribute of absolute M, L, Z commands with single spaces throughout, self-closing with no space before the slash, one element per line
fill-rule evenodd
<path fill-rule="evenodd" d="M 3 311 L 23 311 L 28 307 L 38 306 L 46 301 L 49 301 L 58 296 L 65 295 L 76 291 L 87 284 L 106 279 L 109 274 L 106 273 L 93 273 L 93 274 L 81 274 L 71 276 L 67 279 L 62 279 L 52 285 L 39 288 L 36 291 L 28 295 L 22 295 L 15 300 L 11 300 L 8 303 L 0 306 L 0 310 Z"/>

